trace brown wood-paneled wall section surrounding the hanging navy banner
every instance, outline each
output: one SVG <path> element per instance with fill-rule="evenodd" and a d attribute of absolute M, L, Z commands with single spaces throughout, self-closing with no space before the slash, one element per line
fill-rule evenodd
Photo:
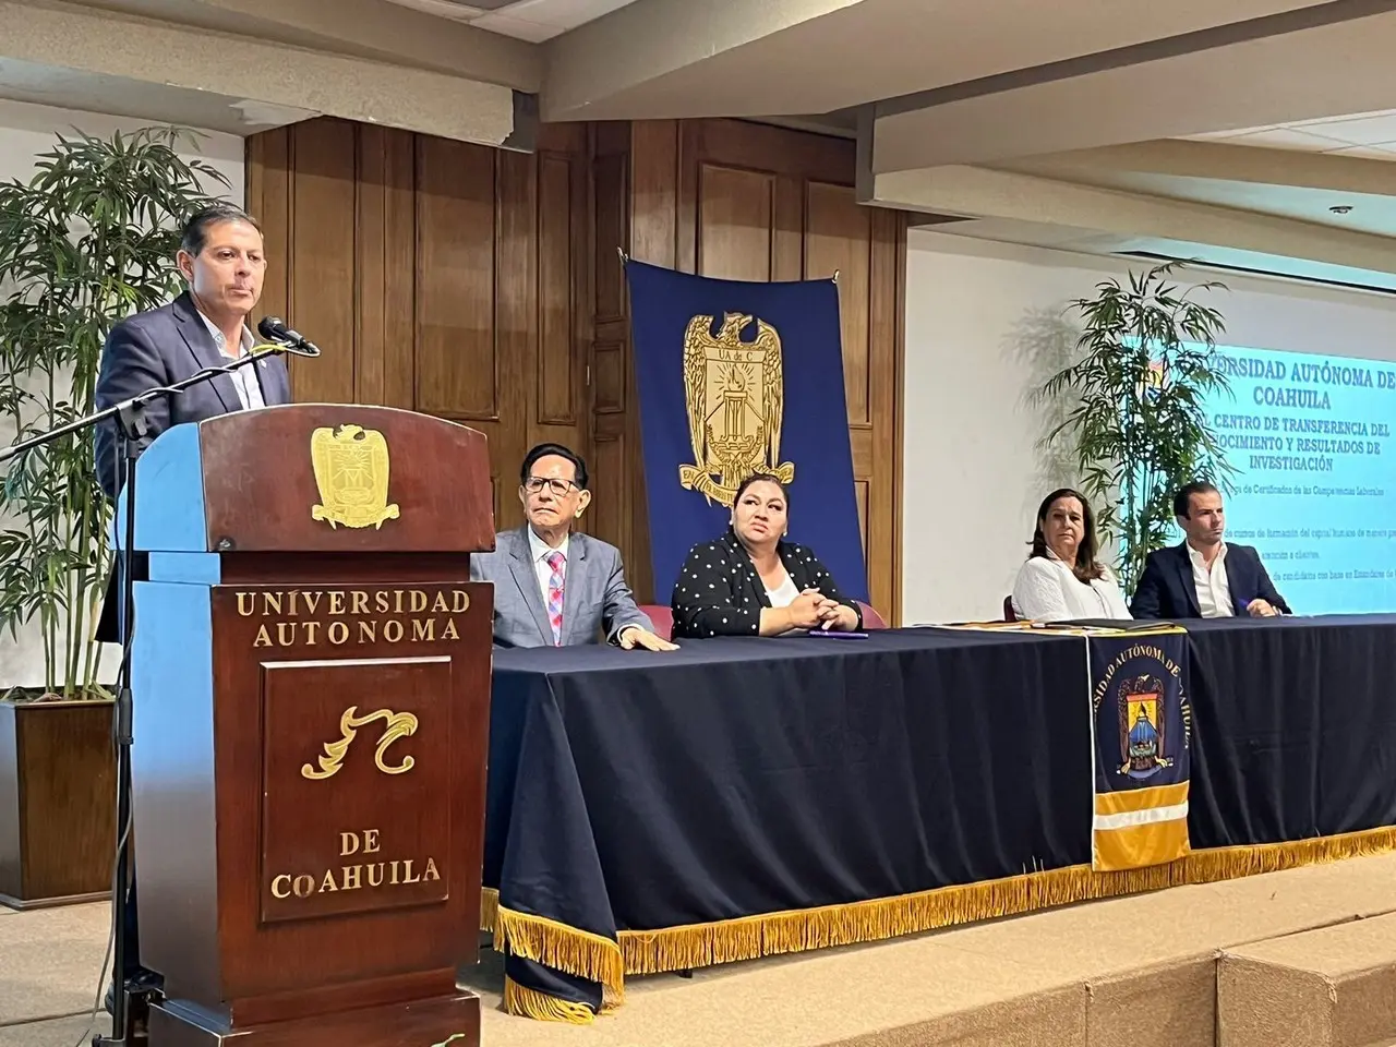
<path fill-rule="evenodd" d="M 621 158 L 625 159 L 621 163 Z M 860 207 L 849 141 L 736 120 L 653 120 L 593 130 L 596 267 L 616 247 L 656 265 L 730 279 L 839 276 L 849 441 L 872 603 L 900 616 L 900 360 L 905 218 Z M 617 215 L 616 201 L 624 201 Z M 618 268 L 617 268 L 618 275 Z M 632 585 L 649 582 L 648 521 L 628 327 L 611 322 L 610 275 L 595 303 L 592 410 L 628 476 L 613 497 L 625 511 L 597 517 L 621 546 Z M 624 370 L 625 395 L 617 395 Z M 621 455 L 621 444 L 624 455 Z"/>

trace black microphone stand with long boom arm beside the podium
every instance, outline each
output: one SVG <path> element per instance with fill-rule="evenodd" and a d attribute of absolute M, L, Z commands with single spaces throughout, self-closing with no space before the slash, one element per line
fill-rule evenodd
<path fill-rule="evenodd" d="M 265 343 L 253 346 L 250 352 L 242 355 L 226 367 L 207 367 L 195 374 L 191 374 L 188 378 L 183 378 L 169 385 L 158 385 L 152 389 L 147 389 L 145 392 L 121 401 L 120 403 L 113 403 L 110 408 L 103 408 L 102 410 L 94 412 L 85 417 L 50 429 L 47 433 L 39 433 L 35 437 L 0 450 L 0 465 L 3 465 L 11 458 L 18 458 L 36 447 L 42 447 L 61 437 L 92 429 L 107 419 L 116 419 L 117 458 L 120 461 L 119 468 L 121 469 L 121 483 L 117 487 L 117 510 L 120 510 L 120 496 L 123 493 L 126 494 L 126 518 L 119 521 L 124 532 L 119 550 L 124 563 L 120 564 L 121 603 L 117 607 L 117 631 L 121 638 L 121 663 L 116 678 L 116 711 L 112 727 L 113 743 L 116 745 L 117 826 L 116 872 L 112 884 L 112 930 L 116 953 L 112 962 L 112 983 L 116 988 L 116 1000 L 113 1001 L 114 1005 L 112 1008 L 113 1034 L 102 1036 L 99 1033 L 94 1036 L 94 1047 L 128 1047 L 135 1043 L 133 1037 L 131 1007 L 126 991 L 126 893 L 130 884 L 131 864 L 131 743 L 134 741 L 134 706 L 131 702 L 131 641 L 134 638 L 133 620 L 135 617 L 135 582 L 131 564 L 135 554 L 135 459 L 140 458 L 141 451 L 144 450 L 142 441 L 148 433 L 145 408 L 162 396 L 176 396 L 193 385 L 216 378 L 219 374 L 232 374 L 239 367 L 250 367 L 258 360 L 265 360 L 271 356 L 282 353 L 293 353 L 296 356 L 320 355 L 318 349 L 311 353 L 299 346 L 286 343 Z M 119 565 L 113 563 L 113 568 L 117 567 Z M 141 995 L 147 994 L 142 993 Z"/>

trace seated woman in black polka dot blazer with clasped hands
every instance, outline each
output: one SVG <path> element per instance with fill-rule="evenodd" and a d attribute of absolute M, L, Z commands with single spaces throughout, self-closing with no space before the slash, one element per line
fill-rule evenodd
<path fill-rule="evenodd" d="M 805 546 L 785 540 L 789 496 L 779 479 L 743 480 L 732 526 L 692 547 L 671 607 L 674 637 L 778 637 L 800 630 L 863 627 L 859 606 Z"/>

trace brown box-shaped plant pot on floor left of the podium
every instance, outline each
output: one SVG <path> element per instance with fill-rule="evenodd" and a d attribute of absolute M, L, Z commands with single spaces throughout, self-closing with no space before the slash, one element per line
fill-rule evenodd
<path fill-rule="evenodd" d="M 112 701 L 0 701 L 0 905 L 112 895 Z"/>

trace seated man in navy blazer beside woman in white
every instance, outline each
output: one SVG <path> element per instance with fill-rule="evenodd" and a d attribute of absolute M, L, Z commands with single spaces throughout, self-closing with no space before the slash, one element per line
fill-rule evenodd
<path fill-rule="evenodd" d="M 1150 553 L 1129 613 L 1136 618 L 1269 618 L 1293 614 L 1251 546 L 1227 544 L 1222 493 L 1210 483 L 1184 486 L 1173 500 L 1181 546 Z"/>

